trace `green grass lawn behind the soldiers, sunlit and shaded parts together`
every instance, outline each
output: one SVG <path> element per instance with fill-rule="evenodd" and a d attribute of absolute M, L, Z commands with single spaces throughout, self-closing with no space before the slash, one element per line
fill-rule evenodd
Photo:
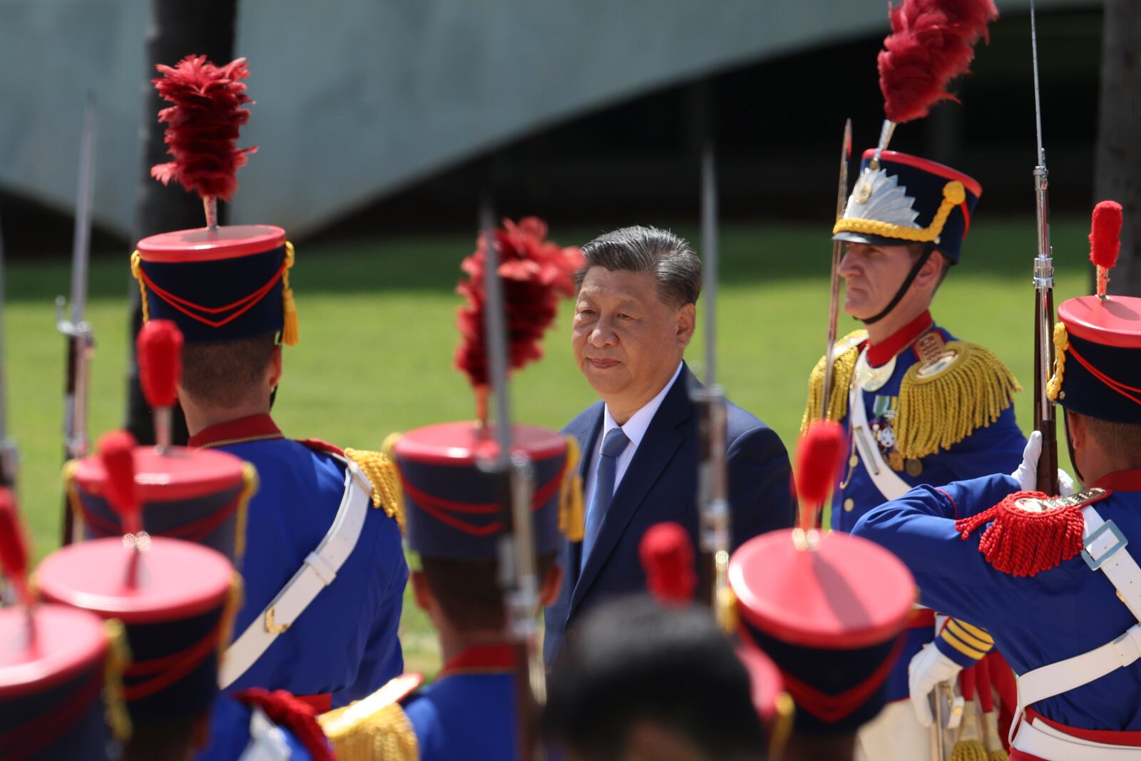
<path fill-rule="evenodd" d="M 1055 219 L 1055 300 L 1089 292 L 1084 219 Z M 696 229 L 679 228 L 690 240 Z M 553 230 L 581 243 L 586 230 Z M 301 245 L 291 277 L 301 342 L 285 350 L 274 415 L 288 436 L 378 448 L 391 431 L 470 418 L 474 400 L 451 367 L 460 259 L 474 236 L 422 236 L 322 246 Z M 942 285 L 936 319 L 961 338 L 985 343 L 1028 384 L 1033 359 L 1031 217 L 980 221 L 964 262 Z M 719 374 L 730 398 L 754 412 L 791 447 L 804 404 L 808 371 L 824 350 L 827 269 L 825 232 L 808 226 L 731 226 L 721 232 L 718 303 Z M 127 361 L 127 252 L 97 257 L 89 319 L 98 342 L 92 366 L 90 430 L 122 423 Z M 35 553 L 59 542 L 63 339 L 52 299 L 68 291 L 67 262 L 22 261 L 7 273 L 5 309 L 8 415 L 23 460 L 19 495 Z M 570 305 L 545 342 L 547 356 L 512 382 L 517 420 L 559 428 L 593 395 L 570 358 Z M 840 334 L 856 323 L 843 318 Z M 690 347 L 699 372 L 702 330 Z M 1029 387 L 1028 387 L 1029 389 Z M 1017 399 L 1030 426 L 1030 391 Z M 1065 448 L 1065 447 L 1062 447 Z M 1068 463 L 1066 463 L 1068 465 Z M 410 669 L 432 672 L 431 629 L 406 598 L 403 628 Z"/>

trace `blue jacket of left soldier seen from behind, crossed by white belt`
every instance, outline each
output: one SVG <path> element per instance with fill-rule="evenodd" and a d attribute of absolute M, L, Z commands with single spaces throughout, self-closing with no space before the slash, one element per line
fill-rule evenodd
<path fill-rule="evenodd" d="M 237 637 L 325 536 L 345 492 L 345 464 L 333 447 L 285 439 L 269 415 L 213 426 L 189 443 L 252 463 L 260 480 L 249 505 Z M 313 701 L 322 710 L 378 689 L 403 672 L 397 626 L 407 574 L 396 520 L 370 509 L 333 582 L 228 689 L 330 696 Z"/>

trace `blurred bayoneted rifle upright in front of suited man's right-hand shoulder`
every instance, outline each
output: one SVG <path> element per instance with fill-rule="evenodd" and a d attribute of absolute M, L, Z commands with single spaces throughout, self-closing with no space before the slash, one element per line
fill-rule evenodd
<path fill-rule="evenodd" d="M 697 407 L 698 599 L 711 607 L 714 618 L 728 626 L 722 605 L 729 581 L 729 500 L 726 470 L 727 407 L 725 389 L 717 383 L 717 155 L 713 139 L 702 143 L 702 267 L 705 290 L 705 386 L 689 390 Z"/>

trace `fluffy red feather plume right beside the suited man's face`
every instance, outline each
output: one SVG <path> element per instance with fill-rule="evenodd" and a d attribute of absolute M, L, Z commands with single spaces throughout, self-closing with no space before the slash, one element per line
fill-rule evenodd
<path fill-rule="evenodd" d="M 494 235 L 499 273 L 503 278 L 508 363 L 512 370 L 519 370 L 543 356 L 540 340 L 555 321 L 559 296 L 574 296 L 574 273 L 584 259 L 577 248 L 563 248 L 548 241 L 547 222 L 537 217 L 525 217 L 518 224 L 504 219 Z M 455 289 L 464 298 L 456 311 L 462 341 L 455 350 L 455 366 L 467 373 L 477 389 L 488 382 L 484 343 L 486 237 L 480 234 L 475 253 L 463 260 L 460 268 L 468 278 L 461 280 Z"/>

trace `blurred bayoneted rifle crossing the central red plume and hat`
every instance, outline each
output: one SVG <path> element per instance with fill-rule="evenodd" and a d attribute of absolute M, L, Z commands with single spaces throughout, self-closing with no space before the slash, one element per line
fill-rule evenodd
<path fill-rule="evenodd" d="M 507 526 L 500 540 L 499 573 L 508 623 L 516 646 L 518 758 L 520 761 L 535 761 L 542 756 L 537 719 L 539 705 L 545 702 L 547 677 L 539 650 L 539 575 L 531 512 L 534 467 L 525 452 L 511 452 L 507 326 L 489 192 L 485 192 L 480 203 L 479 226 L 486 245 L 484 288 L 487 302 L 484 309 L 484 335 L 488 354 L 488 380 L 495 402 L 494 436 L 499 444 L 494 461 L 483 463 L 483 467 L 500 484 L 500 504 Z"/>

